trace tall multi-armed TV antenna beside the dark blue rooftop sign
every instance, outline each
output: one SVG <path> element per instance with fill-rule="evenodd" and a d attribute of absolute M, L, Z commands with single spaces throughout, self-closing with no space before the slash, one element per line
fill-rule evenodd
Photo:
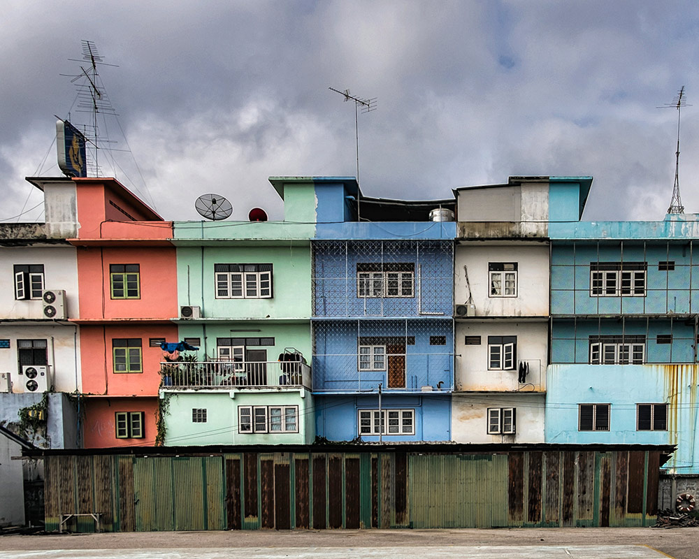
<path fill-rule="evenodd" d="M 69 58 L 73 62 L 80 62 L 80 73 L 77 75 L 61 74 L 71 79 L 71 83 L 75 83 L 78 90 L 76 101 L 78 103 L 76 112 L 87 112 L 91 115 L 91 121 L 88 126 L 85 126 L 85 137 L 90 145 L 88 154 L 89 159 L 92 159 L 94 165 L 94 176 L 99 177 L 99 145 L 106 143 L 114 143 L 106 138 L 99 136 L 99 115 L 118 116 L 115 108 L 107 95 L 106 89 L 102 84 L 99 76 L 98 66 L 113 66 L 118 68 L 117 64 L 107 64 L 92 41 L 83 39 L 82 43 L 82 59 Z M 87 64 L 86 64 L 87 63 Z M 92 130 L 89 130 L 92 129 Z"/>

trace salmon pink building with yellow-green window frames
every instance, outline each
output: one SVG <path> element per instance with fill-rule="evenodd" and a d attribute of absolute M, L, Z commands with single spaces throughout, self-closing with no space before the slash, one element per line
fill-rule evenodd
<path fill-rule="evenodd" d="M 152 446 L 161 342 L 177 340 L 171 222 L 111 178 L 76 178 L 83 446 Z"/>

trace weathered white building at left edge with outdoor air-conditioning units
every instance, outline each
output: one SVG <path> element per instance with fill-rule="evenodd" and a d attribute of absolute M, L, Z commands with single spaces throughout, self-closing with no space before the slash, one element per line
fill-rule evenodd
<path fill-rule="evenodd" d="M 0 225 L 0 424 L 48 447 L 74 447 L 80 393 L 75 185 L 29 180 L 45 193 L 45 223 Z M 50 398 L 44 398 L 50 393 Z M 27 410 L 32 427 L 27 433 Z M 23 411 L 24 410 L 24 411 Z"/>

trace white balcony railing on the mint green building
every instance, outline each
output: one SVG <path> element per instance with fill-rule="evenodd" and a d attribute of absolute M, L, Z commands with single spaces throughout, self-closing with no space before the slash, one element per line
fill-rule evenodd
<path fill-rule="evenodd" d="M 310 389 L 310 367 L 279 361 L 160 363 L 164 389 L 246 389 L 269 386 Z"/>

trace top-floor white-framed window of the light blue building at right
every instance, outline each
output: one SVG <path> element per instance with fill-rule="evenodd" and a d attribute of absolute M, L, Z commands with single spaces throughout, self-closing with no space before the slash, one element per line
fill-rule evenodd
<path fill-rule="evenodd" d="M 591 297 L 645 297 L 646 262 L 591 262 Z"/>

